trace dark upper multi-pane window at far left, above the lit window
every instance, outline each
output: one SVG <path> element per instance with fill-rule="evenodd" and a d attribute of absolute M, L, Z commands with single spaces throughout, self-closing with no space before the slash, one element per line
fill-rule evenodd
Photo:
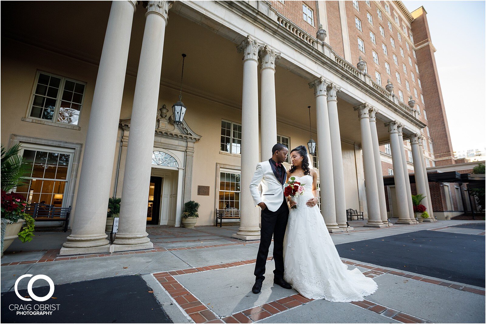
<path fill-rule="evenodd" d="M 55 123 L 78 125 L 85 83 L 37 72 L 29 116 Z"/>

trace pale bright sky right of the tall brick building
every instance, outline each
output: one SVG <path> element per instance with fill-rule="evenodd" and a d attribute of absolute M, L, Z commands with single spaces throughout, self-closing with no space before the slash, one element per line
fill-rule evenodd
<path fill-rule="evenodd" d="M 402 2 L 427 12 L 453 150 L 484 148 L 485 1 Z"/>

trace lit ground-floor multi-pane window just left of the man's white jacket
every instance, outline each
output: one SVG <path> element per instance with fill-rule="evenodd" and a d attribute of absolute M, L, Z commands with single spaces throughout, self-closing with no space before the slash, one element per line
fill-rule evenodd
<path fill-rule="evenodd" d="M 240 209 L 240 173 L 221 171 L 219 173 L 218 209 Z"/>

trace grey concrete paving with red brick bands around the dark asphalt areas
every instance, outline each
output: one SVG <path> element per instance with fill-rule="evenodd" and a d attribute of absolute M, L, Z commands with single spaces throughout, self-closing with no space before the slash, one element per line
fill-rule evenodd
<path fill-rule="evenodd" d="M 355 223 L 353 221 L 352 225 Z M 475 226 L 460 226 L 470 223 Z M 481 228 L 477 228 L 481 224 L 485 222 L 442 221 L 386 228 L 355 227 L 356 231 L 332 234 L 331 238 L 336 245 L 380 238 L 393 242 L 400 235 L 411 233 L 412 236 L 420 231 L 425 235 L 434 232 L 451 235 L 451 240 L 455 234 L 470 235 L 471 239 L 484 242 L 484 229 L 480 232 Z M 271 271 L 274 262 L 270 258 L 262 292 L 255 295 L 251 287 L 259 243 L 232 239 L 231 234 L 237 229 L 237 226 L 194 229 L 150 226 L 147 232 L 154 242 L 153 250 L 74 257 L 57 255 L 69 233 L 38 232 L 30 243 L 13 243 L 1 259 L 1 292 L 13 292 L 15 281 L 23 274 L 48 275 L 56 285 L 141 275 L 174 323 L 485 322 L 484 288 L 404 271 L 402 264 L 392 267 L 371 264 L 366 262 L 366 257 L 360 261 L 342 258 L 349 269 L 358 267 L 378 283 L 378 291 L 365 297 L 364 302 L 310 301 L 295 290 L 273 286 Z M 271 251 L 272 247 L 269 257 Z M 383 251 L 383 256 L 387 253 L 393 251 Z M 369 260 L 381 262 L 376 258 Z M 28 279 L 21 280 L 19 289 L 25 289 L 27 283 Z M 45 281 L 37 280 L 33 287 L 43 285 L 46 285 Z M 20 300 L 15 293 L 13 296 L 15 298 L 10 302 L 18 304 Z M 65 308 L 72 306 L 67 304 L 68 298 L 64 300 Z M 63 305 L 62 296 L 57 296 L 56 301 Z M 126 303 L 128 307 L 144 307 L 143 303 L 135 305 L 137 301 L 130 298 Z M 77 320 L 64 318 L 64 322 Z"/>

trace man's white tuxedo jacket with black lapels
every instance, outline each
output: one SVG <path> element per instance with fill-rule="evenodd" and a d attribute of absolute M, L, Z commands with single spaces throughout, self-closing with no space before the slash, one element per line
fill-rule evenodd
<path fill-rule="evenodd" d="M 283 187 L 284 182 L 281 183 L 277 178 L 277 170 L 270 161 L 264 161 L 257 164 L 257 170 L 253 174 L 253 178 L 250 183 L 250 192 L 253 197 L 255 205 L 264 202 L 269 211 L 277 211 L 282 205 L 284 195 Z M 285 170 L 287 173 L 287 170 Z M 261 196 L 259 192 L 259 186 L 261 184 Z"/>

